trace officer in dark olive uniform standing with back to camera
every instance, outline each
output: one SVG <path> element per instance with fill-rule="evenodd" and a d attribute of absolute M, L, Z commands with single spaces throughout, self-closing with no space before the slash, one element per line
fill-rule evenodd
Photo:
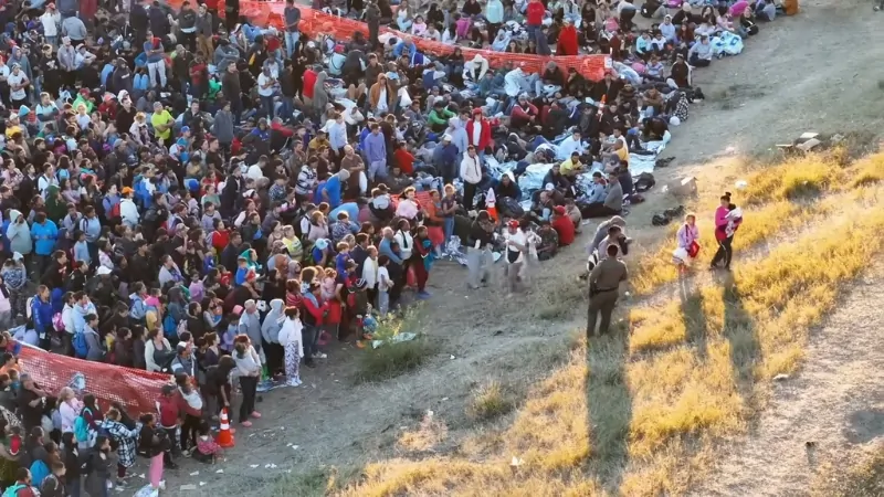
<path fill-rule="evenodd" d="M 629 277 L 627 265 L 617 257 L 620 248 L 608 245 L 607 257 L 589 273 L 589 308 L 587 313 L 587 339 L 596 332 L 596 319 L 601 314 L 599 334 L 604 335 L 611 326 L 611 314 L 620 296 L 620 282 Z"/>

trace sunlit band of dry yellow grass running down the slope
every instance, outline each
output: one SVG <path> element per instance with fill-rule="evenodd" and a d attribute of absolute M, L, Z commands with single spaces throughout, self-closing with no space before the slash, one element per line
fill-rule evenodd
<path fill-rule="evenodd" d="M 765 178 L 750 193 L 779 204 L 812 190 L 808 175 L 776 184 Z M 832 175 L 818 184 L 848 183 L 845 170 Z M 685 493 L 711 468 L 717 441 L 745 430 L 769 380 L 800 366 L 809 327 L 882 252 L 882 186 L 827 195 L 818 209 L 831 211 L 813 211 L 802 223 L 820 213 L 829 218 L 794 241 L 683 302 L 634 311 L 631 337 L 576 347 L 528 392 L 512 425 L 480 431 L 446 456 L 370 464 L 341 495 Z M 747 226 L 770 208 L 762 203 L 747 209 Z"/>

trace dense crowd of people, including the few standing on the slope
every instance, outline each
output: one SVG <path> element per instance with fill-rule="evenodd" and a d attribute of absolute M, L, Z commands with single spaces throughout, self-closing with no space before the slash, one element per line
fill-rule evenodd
<path fill-rule="evenodd" d="M 518 293 L 529 262 L 573 243 L 582 219 L 610 218 L 593 250 L 611 261 L 589 275 L 608 292 L 627 277 L 622 216 L 641 200 L 631 157 L 669 140 L 702 97 L 691 75 L 712 60 L 709 36 L 748 35 L 776 15 L 771 0 L 676 2 L 642 31 L 631 0 L 390 3 L 314 2 L 365 21 L 347 40 L 311 38 L 292 0 L 281 30 L 240 18 L 236 0 L 223 17 L 212 0 L 0 8 L 0 482 L 11 495 L 108 495 L 138 455 L 158 491 L 176 458 L 217 457 L 210 426 L 234 392 L 248 429 L 259 391 L 301 385 L 328 343 L 364 347 L 377 320 L 432 298 L 442 258 L 466 265 L 475 289 L 499 256 Z M 422 53 L 414 38 L 455 49 Z M 492 67 L 461 46 L 607 53 L 630 77 Z M 741 214 L 729 195 L 722 209 L 714 264 L 728 266 Z M 680 230 L 681 263 L 698 251 L 694 221 Z M 602 300 L 590 305 L 607 330 L 615 293 Z M 156 412 L 133 416 L 41 389 L 17 343 L 175 381 Z"/>

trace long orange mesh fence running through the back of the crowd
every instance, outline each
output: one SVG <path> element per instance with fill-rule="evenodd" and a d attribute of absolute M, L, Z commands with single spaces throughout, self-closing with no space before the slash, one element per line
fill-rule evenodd
<path fill-rule="evenodd" d="M 176 9 L 181 7 L 183 0 L 170 0 L 169 4 Z M 338 40 L 346 40 L 357 31 L 368 36 L 368 25 L 365 22 L 348 18 L 330 15 L 322 11 L 298 6 L 301 9 L 301 24 L 303 32 L 314 36 L 316 34 L 329 34 Z M 224 11 L 223 0 L 219 2 L 218 11 Z M 283 12 L 284 2 L 255 2 L 241 1 L 240 15 L 249 19 L 254 25 L 274 27 L 283 30 L 285 27 Z M 389 28 L 381 27 L 381 33 L 392 33 L 397 38 L 411 38 L 414 44 L 424 53 L 442 56 L 454 52 L 455 45 L 441 42 L 424 40 L 411 36 Z M 555 62 L 562 70 L 573 67 L 590 81 L 600 81 L 604 77 L 606 70 L 611 68 L 611 60 L 608 55 L 570 55 L 570 56 L 543 56 L 529 54 L 512 54 L 495 52 L 493 50 L 475 50 L 461 46 L 464 60 L 470 61 L 476 54 L 482 55 L 488 61 L 492 67 L 502 67 L 506 61 L 513 63 L 524 63 L 527 72 L 543 72 L 548 62 Z"/>

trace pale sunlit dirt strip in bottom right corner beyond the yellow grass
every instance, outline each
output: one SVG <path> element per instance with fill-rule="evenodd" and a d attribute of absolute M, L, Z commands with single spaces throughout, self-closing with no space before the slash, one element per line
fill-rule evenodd
<path fill-rule="evenodd" d="M 765 414 L 745 441 L 725 448 L 719 472 L 695 495 L 807 495 L 821 463 L 842 462 L 884 435 L 882 299 L 878 267 L 811 336 L 807 366 L 777 383 Z"/>

